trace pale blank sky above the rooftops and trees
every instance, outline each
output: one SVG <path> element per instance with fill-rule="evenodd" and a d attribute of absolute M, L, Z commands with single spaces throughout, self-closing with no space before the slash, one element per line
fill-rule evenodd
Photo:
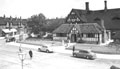
<path fill-rule="evenodd" d="M 104 9 L 104 0 L 0 0 L 0 16 L 29 18 L 43 13 L 46 18 L 66 17 L 72 8 Z M 119 0 L 107 0 L 107 8 L 120 8 Z"/>

